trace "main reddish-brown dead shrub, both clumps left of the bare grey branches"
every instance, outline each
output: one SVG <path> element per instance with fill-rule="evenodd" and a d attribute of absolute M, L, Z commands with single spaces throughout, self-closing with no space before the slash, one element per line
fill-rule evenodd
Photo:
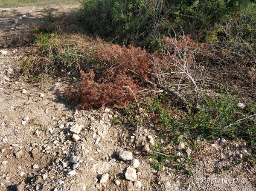
<path fill-rule="evenodd" d="M 93 71 L 85 74 L 81 71 L 81 81 L 66 95 L 81 108 L 102 107 L 123 104 L 134 100 L 132 91 L 138 91 L 142 79 L 147 78 L 145 71 L 152 71 L 150 55 L 135 47 L 120 47 L 114 44 L 101 44 L 95 51 L 96 57 L 106 63 L 100 77 Z M 129 86 L 125 88 L 124 86 Z"/>

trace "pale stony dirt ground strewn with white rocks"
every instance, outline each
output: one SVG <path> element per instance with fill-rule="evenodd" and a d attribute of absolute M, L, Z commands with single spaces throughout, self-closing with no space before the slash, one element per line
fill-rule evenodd
<path fill-rule="evenodd" d="M 67 14 L 76 8 L 78 5 L 57 6 L 54 10 Z M 44 7 L 1 12 L 1 37 L 20 35 L 30 25 L 43 22 L 44 14 Z M 15 79 L 22 48 L 8 45 L 0 50 L 8 52 L 0 54 L 1 191 L 255 190 L 255 164 L 244 162 L 221 174 L 212 174 L 250 156 L 251 150 L 244 143 L 224 139 L 198 141 L 198 149 L 191 153 L 195 159 L 191 176 L 172 164 L 156 171 L 146 158 L 152 152 L 148 136 L 157 140 L 154 128 L 139 129 L 134 149 L 133 132 L 111 125 L 111 118 L 116 117 L 112 108 L 84 111 L 71 106 L 63 96 L 69 86 L 64 79 L 44 86 Z M 146 152 L 142 151 L 145 145 L 149 146 Z M 173 150 L 180 152 L 179 160 L 187 160 L 188 148 L 189 145 L 180 145 Z M 122 151 L 132 153 L 125 155 Z M 137 166 L 137 160 L 131 162 L 131 158 L 140 164 Z"/>

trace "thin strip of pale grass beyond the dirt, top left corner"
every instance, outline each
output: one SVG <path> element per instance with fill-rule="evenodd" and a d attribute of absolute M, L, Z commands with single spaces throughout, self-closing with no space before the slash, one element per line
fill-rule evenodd
<path fill-rule="evenodd" d="M 0 0 L 0 8 L 40 6 L 40 5 L 63 5 L 75 4 L 77 0 Z"/>

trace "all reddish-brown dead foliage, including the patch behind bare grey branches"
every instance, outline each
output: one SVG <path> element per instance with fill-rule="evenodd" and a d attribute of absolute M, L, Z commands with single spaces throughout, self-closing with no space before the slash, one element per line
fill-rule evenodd
<path fill-rule="evenodd" d="M 93 54 L 104 63 L 102 64 L 104 67 L 101 68 L 102 74 L 96 75 L 93 71 L 85 74 L 84 71 L 81 71 L 81 81 L 78 85 L 66 89 L 68 99 L 78 103 L 81 108 L 99 108 L 134 100 L 134 92 L 145 85 L 145 79 L 159 83 L 159 79 L 157 79 L 159 68 L 162 68 L 163 71 L 175 68 L 174 64 L 170 65 L 170 62 L 173 62 L 171 57 L 183 62 L 182 58 L 179 58 L 178 52 L 175 51 L 177 47 L 183 51 L 187 50 L 187 46 L 190 48 L 197 46 L 190 36 L 179 37 L 176 41 L 167 37 L 163 42 L 170 50 L 170 55 L 158 52 L 149 54 L 138 47 L 126 48 L 112 43 L 99 42 Z M 172 48 L 172 46 L 177 47 Z M 188 56 L 186 62 L 191 64 L 190 60 L 194 61 L 194 59 L 190 58 L 190 54 Z"/>

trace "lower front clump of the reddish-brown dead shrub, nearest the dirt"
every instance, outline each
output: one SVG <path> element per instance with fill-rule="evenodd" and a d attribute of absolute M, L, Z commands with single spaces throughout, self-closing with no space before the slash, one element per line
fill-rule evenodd
<path fill-rule="evenodd" d="M 131 88 L 137 90 L 138 86 L 132 80 L 120 74 L 116 75 L 112 80 L 104 79 L 104 81 L 96 82 L 93 71 L 88 74 L 81 71 L 79 86 L 76 86 L 71 91 L 66 89 L 65 93 L 70 101 L 79 103 L 81 108 L 99 108 L 105 105 L 134 100 L 131 92 L 127 88 L 123 88 L 123 86 L 129 84 Z"/>

